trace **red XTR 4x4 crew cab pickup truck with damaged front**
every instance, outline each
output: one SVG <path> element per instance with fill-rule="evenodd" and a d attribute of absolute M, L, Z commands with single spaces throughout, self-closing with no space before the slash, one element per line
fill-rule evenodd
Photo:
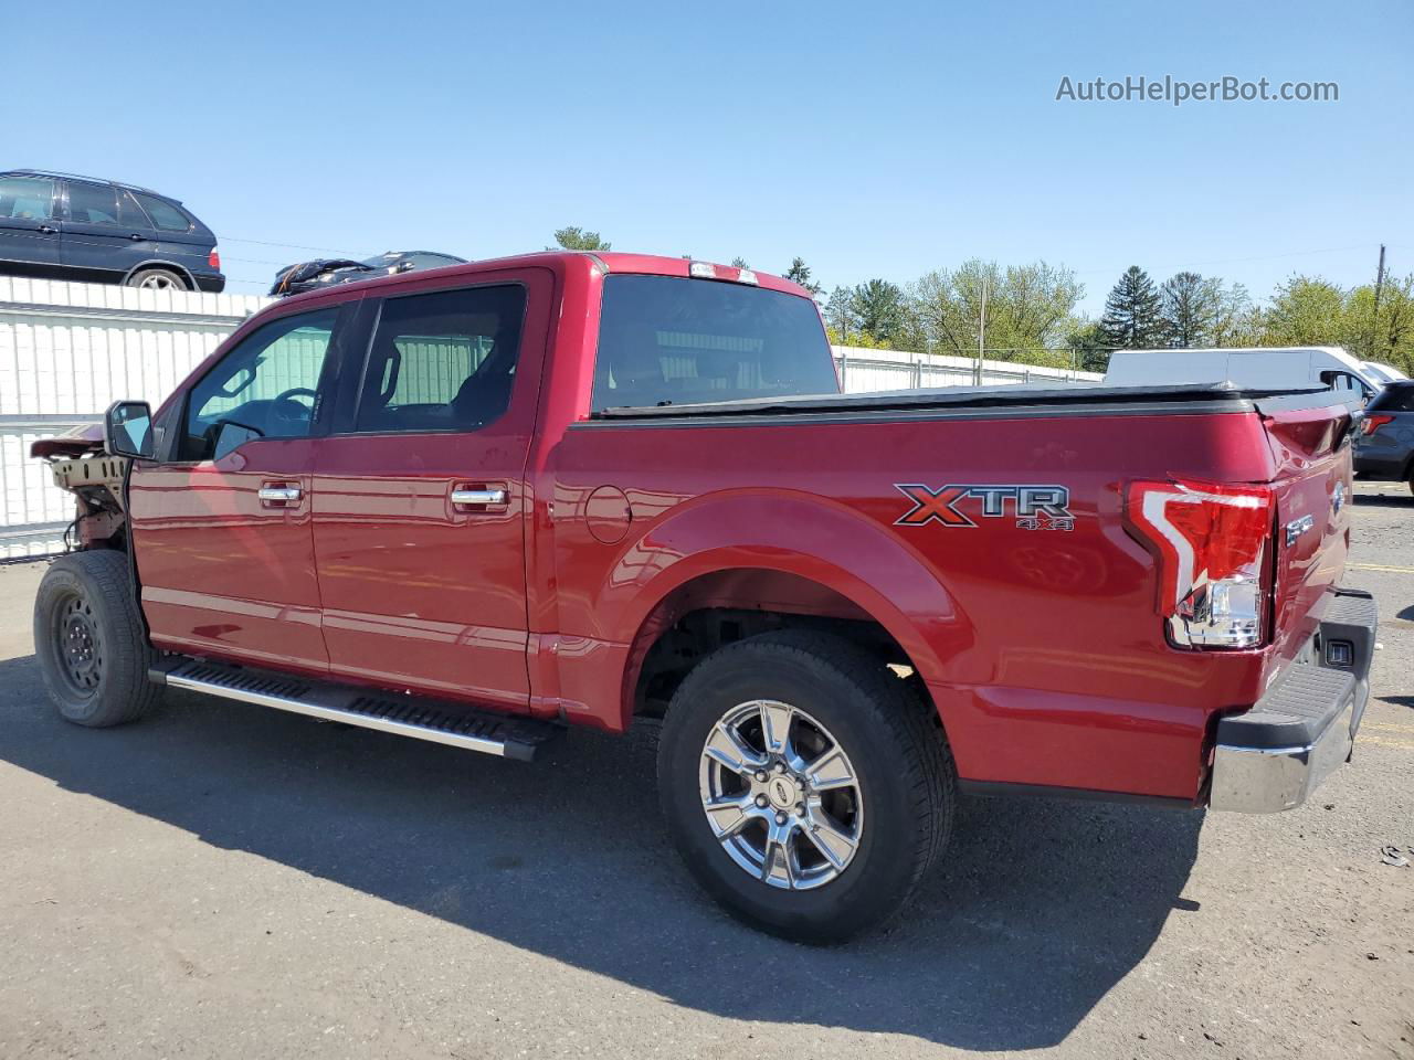
<path fill-rule="evenodd" d="M 1270 811 L 1349 758 L 1357 417 L 1208 386 L 843 396 L 781 278 L 420 271 L 271 305 L 156 414 L 37 444 L 79 509 L 37 652 L 82 725 L 170 685 L 529 759 L 662 718 L 693 875 L 837 940 L 904 903 L 960 790 Z"/>

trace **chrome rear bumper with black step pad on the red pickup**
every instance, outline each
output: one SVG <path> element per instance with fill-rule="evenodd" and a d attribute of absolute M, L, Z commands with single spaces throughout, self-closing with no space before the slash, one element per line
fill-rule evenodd
<path fill-rule="evenodd" d="M 1237 813 L 1291 810 L 1350 759 L 1370 698 L 1374 599 L 1338 588 L 1308 657 L 1257 704 L 1217 724 L 1209 806 Z M 1340 657 L 1348 654 L 1349 663 Z"/>

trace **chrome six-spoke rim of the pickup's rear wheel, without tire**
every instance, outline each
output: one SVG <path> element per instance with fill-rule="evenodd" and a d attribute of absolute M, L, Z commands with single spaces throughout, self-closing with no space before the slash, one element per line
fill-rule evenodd
<path fill-rule="evenodd" d="M 829 883 L 864 835 L 864 800 L 848 755 L 790 704 L 732 707 L 703 745 L 703 813 L 734 862 L 785 890 Z"/>

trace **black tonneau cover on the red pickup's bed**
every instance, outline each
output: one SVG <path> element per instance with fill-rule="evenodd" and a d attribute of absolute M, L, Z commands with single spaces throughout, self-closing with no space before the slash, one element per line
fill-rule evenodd
<path fill-rule="evenodd" d="M 1321 407 L 1348 404 L 1359 407 L 1353 399 L 1340 397 L 1321 386 L 1282 390 L 1249 390 L 1232 383 L 1185 383 L 1176 386 L 1103 386 L 1070 383 L 1058 387 L 1036 386 L 969 386 L 933 390 L 884 390 L 861 394 L 806 394 L 800 397 L 752 397 L 740 401 L 704 401 L 697 404 L 624 406 L 602 408 L 591 414 L 594 420 L 752 417 L 789 414 L 861 416 L 887 411 L 950 411 L 969 408 L 1019 408 L 1048 406 L 1113 408 L 1144 406 L 1203 406 L 1202 411 L 1261 411 L 1282 407 Z M 1212 407 L 1217 406 L 1217 407 Z M 1117 411 L 1117 410 L 1116 410 Z"/>

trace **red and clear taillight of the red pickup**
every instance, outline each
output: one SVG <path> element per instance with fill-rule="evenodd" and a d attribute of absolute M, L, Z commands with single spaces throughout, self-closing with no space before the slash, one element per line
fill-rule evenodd
<path fill-rule="evenodd" d="M 1159 557 L 1158 608 L 1174 644 L 1263 643 L 1274 503 L 1267 486 L 1130 483 L 1128 519 Z"/>

